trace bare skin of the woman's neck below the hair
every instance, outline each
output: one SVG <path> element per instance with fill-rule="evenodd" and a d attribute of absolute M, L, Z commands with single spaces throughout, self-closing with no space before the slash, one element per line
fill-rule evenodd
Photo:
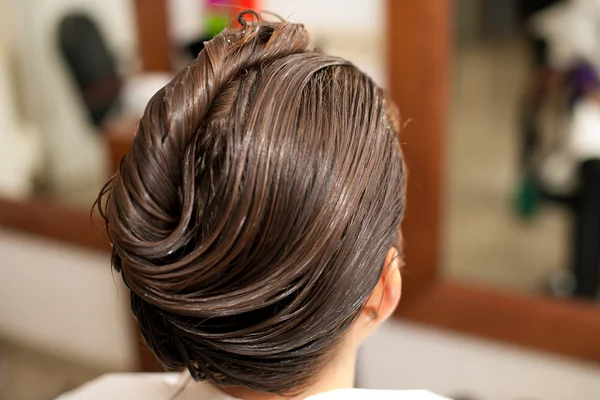
<path fill-rule="evenodd" d="M 329 392 L 336 389 L 347 389 L 354 387 L 354 374 L 356 371 L 356 352 L 348 352 L 325 367 L 322 378 L 310 385 L 301 395 L 294 399 L 304 399 L 318 393 Z M 224 393 L 243 400 L 283 400 L 283 397 L 275 394 L 259 392 L 243 387 L 220 388 Z"/>

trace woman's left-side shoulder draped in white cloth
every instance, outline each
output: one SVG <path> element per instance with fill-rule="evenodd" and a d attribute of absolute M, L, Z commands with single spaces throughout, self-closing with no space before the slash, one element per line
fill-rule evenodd
<path fill-rule="evenodd" d="M 192 386 L 186 385 L 186 381 L 179 373 L 107 374 L 56 400 L 165 400 L 186 386 Z M 203 389 L 210 389 L 203 384 L 193 386 L 195 395 L 201 396 L 199 398 L 202 398 Z M 186 393 L 181 393 L 179 398 L 184 400 Z"/>

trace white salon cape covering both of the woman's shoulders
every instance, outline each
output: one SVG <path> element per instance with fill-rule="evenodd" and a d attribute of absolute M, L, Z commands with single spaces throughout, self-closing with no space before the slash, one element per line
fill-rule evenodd
<path fill-rule="evenodd" d="M 186 384 L 187 382 L 187 384 Z M 184 388 L 179 395 L 174 395 Z M 239 400 L 177 373 L 108 374 L 56 400 Z M 423 390 L 341 389 L 306 400 L 448 400 Z"/>

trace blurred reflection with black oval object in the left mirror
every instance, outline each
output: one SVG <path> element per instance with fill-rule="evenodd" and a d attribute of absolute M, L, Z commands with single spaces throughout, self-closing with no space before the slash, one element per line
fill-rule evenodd
<path fill-rule="evenodd" d="M 140 73 L 130 0 L 4 2 L 0 195 L 89 209 L 166 78 Z M 8 17 L 10 15 L 11 17 Z"/>

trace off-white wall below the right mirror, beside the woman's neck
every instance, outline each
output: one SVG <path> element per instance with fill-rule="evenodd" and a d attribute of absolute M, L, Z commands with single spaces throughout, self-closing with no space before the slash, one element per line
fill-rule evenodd
<path fill-rule="evenodd" d="M 409 323 L 389 323 L 365 344 L 358 377 L 368 388 L 482 400 L 600 399 L 600 364 Z"/>

